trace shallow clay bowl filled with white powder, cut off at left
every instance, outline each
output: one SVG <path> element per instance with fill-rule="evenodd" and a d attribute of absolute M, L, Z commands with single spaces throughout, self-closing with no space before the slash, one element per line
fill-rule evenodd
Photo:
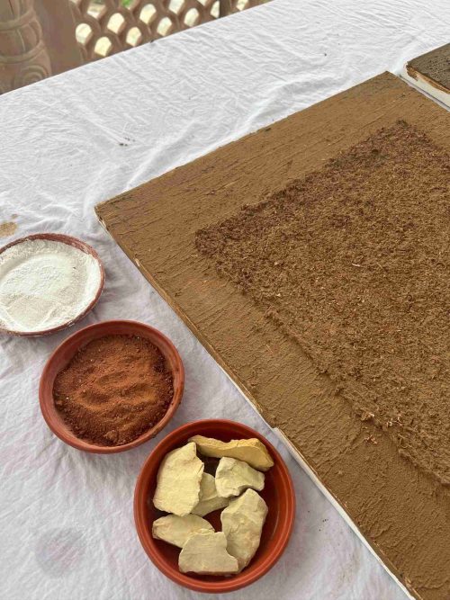
<path fill-rule="evenodd" d="M 47 336 L 94 308 L 104 269 L 76 237 L 38 233 L 0 248 L 0 333 Z"/>

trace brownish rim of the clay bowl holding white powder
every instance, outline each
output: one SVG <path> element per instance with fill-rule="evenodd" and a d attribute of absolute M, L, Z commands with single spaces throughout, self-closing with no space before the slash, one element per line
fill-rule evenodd
<path fill-rule="evenodd" d="M 51 334 L 55 334 L 62 329 L 67 329 L 67 327 L 72 327 L 77 321 L 85 318 L 87 313 L 89 313 L 92 309 L 94 309 L 95 304 L 100 299 L 102 295 L 103 287 L 104 287 L 104 267 L 103 263 L 100 260 L 100 256 L 95 252 L 92 246 L 86 244 L 83 240 L 78 239 L 77 237 L 66 236 L 61 233 L 33 233 L 30 236 L 19 237 L 18 239 L 14 239 L 13 242 L 6 244 L 6 246 L 2 246 L 0 248 L 0 255 L 4 253 L 5 250 L 12 246 L 17 246 L 17 244 L 23 244 L 23 242 L 27 242 L 33 239 L 49 239 L 53 242 L 60 242 L 61 244 L 66 244 L 67 246 L 73 246 L 85 252 L 86 255 L 91 255 L 94 257 L 100 268 L 100 283 L 98 285 L 95 296 L 91 302 L 87 305 L 87 307 L 76 315 L 76 318 L 72 318 L 66 323 L 61 323 L 58 327 L 50 327 L 49 329 L 42 329 L 41 331 L 16 331 L 15 329 L 7 329 L 6 327 L 0 326 L 0 334 L 4 334 L 6 336 L 16 336 L 16 337 L 39 337 L 39 336 L 51 336 Z"/>

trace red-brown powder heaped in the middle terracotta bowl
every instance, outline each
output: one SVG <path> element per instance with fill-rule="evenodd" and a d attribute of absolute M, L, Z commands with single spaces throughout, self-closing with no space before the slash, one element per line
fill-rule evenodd
<path fill-rule="evenodd" d="M 58 412 L 89 443 L 130 443 L 157 424 L 174 395 L 164 356 L 138 336 L 104 336 L 78 350 L 58 373 Z"/>

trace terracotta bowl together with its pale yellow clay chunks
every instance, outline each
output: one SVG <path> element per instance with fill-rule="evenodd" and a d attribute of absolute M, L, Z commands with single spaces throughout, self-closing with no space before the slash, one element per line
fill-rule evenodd
<path fill-rule="evenodd" d="M 234 421 L 182 425 L 139 473 L 134 519 L 148 557 L 197 592 L 226 593 L 263 577 L 293 530 L 293 481 L 274 446 Z"/>

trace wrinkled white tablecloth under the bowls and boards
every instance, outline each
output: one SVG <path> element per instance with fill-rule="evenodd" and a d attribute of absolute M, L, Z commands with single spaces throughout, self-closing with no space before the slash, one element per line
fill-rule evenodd
<path fill-rule="evenodd" d="M 0 98 L 0 222 L 16 236 L 85 239 L 106 268 L 94 312 L 70 331 L 0 342 L 0 597 L 194 598 L 139 545 L 132 496 L 162 435 L 228 417 L 256 427 L 293 475 L 292 541 L 247 600 L 401 600 L 404 595 L 277 442 L 187 327 L 98 224 L 94 204 L 448 41 L 448 0 L 276 0 Z M 4 242 L 10 241 L 4 239 Z M 95 456 L 49 432 L 38 404 L 49 353 L 110 318 L 161 329 L 186 367 L 184 401 L 157 439 Z M 231 595 L 229 595 L 231 596 Z"/>

